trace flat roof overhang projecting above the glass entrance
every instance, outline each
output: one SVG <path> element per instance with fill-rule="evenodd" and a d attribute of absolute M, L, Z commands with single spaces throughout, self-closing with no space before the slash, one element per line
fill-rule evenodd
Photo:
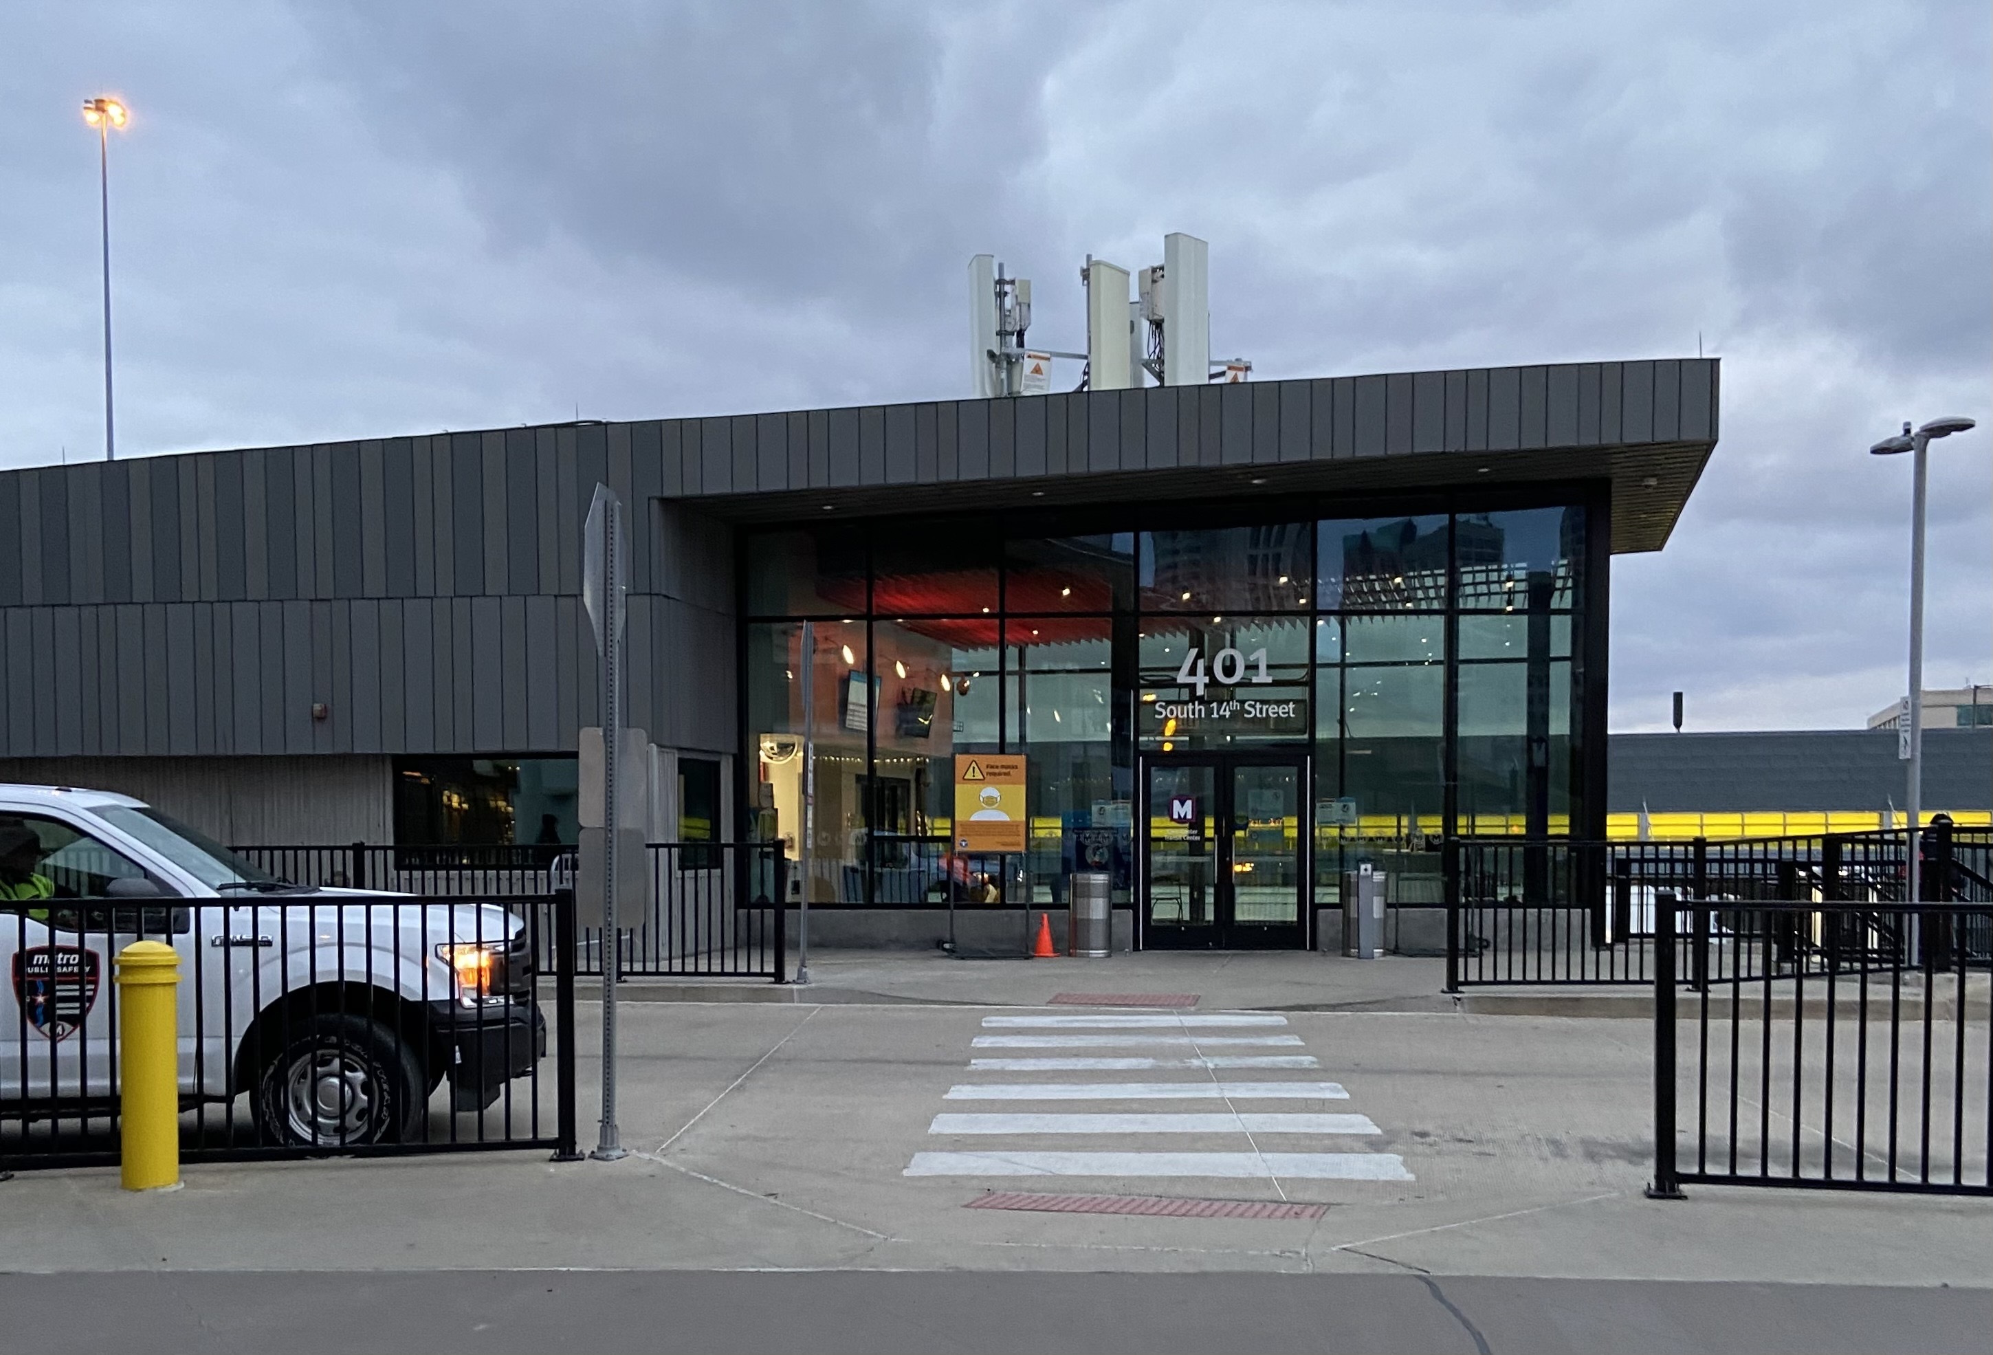
<path fill-rule="evenodd" d="M 779 524 L 1604 482 L 1612 552 L 1628 554 L 1666 544 L 1716 418 L 1718 359 L 747 414 L 682 420 L 700 454 L 680 446 L 684 488 L 668 498 Z M 725 458 L 706 454 L 713 434 Z"/>

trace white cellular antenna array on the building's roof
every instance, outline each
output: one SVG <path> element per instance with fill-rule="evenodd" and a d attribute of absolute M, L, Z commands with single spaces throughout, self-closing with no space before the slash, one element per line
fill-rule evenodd
<path fill-rule="evenodd" d="M 1136 295 L 1130 299 L 1128 281 Z M 1212 361 L 1210 245 L 1196 235 L 1162 237 L 1162 263 L 1134 275 L 1086 255 L 1086 351 L 1030 347 L 1030 279 L 1004 277 L 996 255 L 969 261 L 969 373 L 983 397 L 1048 395 L 1052 359 L 1086 367 L 1078 391 L 1130 391 L 1246 381 L 1246 359 Z"/>

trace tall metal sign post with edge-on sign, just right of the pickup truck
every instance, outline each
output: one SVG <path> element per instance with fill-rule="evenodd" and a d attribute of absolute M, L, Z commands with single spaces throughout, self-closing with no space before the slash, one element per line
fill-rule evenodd
<path fill-rule="evenodd" d="M 624 616 L 630 592 L 630 538 L 622 500 L 608 484 L 596 484 L 582 534 L 582 606 L 596 632 L 602 658 L 602 1124 L 596 1150 L 602 1162 L 628 1156 L 616 1132 L 616 970 L 622 966 L 622 939 L 616 933 L 616 845 L 622 837 L 622 670 Z"/>

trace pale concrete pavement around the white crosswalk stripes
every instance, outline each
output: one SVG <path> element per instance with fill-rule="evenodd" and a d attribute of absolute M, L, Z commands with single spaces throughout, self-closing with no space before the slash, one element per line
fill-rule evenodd
<path fill-rule="evenodd" d="M 1285 1014 L 1280 1028 L 1299 1040 L 1295 1052 L 1319 1060 L 1319 1070 L 1291 1076 L 1331 1078 L 1349 1100 L 1268 1108 L 1361 1112 L 1377 1130 L 1347 1146 L 1397 1156 L 1407 1180 L 1108 1174 L 1038 1184 L 1002 1170 L 989 1180 L 909 1174 L 935 1148 L 993 1148 L 933 1126 L 937 1112 L 979 1108 L 953 1100 L 951 1088 L 1100 1076 L 971 1070 L 971 1054 L 1014 1052 L 977 1048 L 975 1038 L 1008 1028 L 985 1018 L 1014 1020 L 1018 1010 L 632 1002 L 620 1120 L 636 1152 L 624 1162 L 458 1154 L 195 1166 L 187 1188 L 165 1196 L 128 1196 L 114 1170 L 32 1172 L 0 1186 L 0 1255 L 16 1271 L 1112 1269 L 1987 1283 L 1993 1210 L 1981 1200 L 1712 1188 L 1692 1188 L 1686 1202 L 1644 1200 L 1648 1030 L 1616 1020 Z M 578 1036 L 582 1050 L 594 1048 L 592 1014 Z M 584 1058 L 584 1126 L 596 1078 Z M 1046 1132 L 996 1152 L 1026 1160 L 1156 1146 Z M 1250 1150 L 1216 1132 L 1166 1146 Z M 1313 1142 L 1280 1144 L 1289 1146 Z M 965 1208 L 987 1190 L 1020 1186 L 1313 1202 L 1325 1212 L 1254 1220 Z"/>

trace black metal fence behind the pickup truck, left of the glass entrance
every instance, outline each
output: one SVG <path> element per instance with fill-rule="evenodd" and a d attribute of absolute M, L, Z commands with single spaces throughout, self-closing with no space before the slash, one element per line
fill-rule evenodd
<path fill-rule="evenodd" d="M 427 897 L 518 897 L 574 889 L 574 847 L 235 847 L 271 875 L 319 889 L 393 889 Z M 594 891 L 582 891 L 582 909 Z M 789 861 L 781 843 L 650 843 L 644 901 L 618 915 L 618 972 L 658 976 L 785 976 Z M 626 907 L 626 905 L 620 905 Z M 596 903 L 600 915 L 600 903 Z M 600 917 L 582 919 L 576 964 L 602 972 Z"/>

